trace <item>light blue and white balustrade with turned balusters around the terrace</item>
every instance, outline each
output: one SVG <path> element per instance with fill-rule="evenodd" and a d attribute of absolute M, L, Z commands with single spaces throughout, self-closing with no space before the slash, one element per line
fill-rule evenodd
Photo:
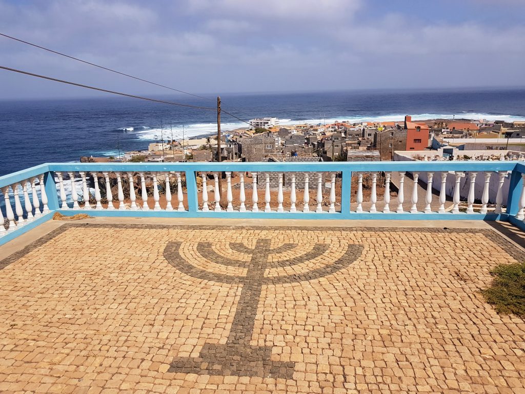
<path fill-rule="evenodd" d="M 363 216 L 366 213 L 375 213 L 378 219 L 381 214 L 407 219 L 409 214 L 448 217 L 461 212 L 473 218 L 491 214 L 490 217 L 496 217 L 496 214 L 507 213 L 505 203 L 510 188 L 514 196 L 509 213 L 518 220 L 525 219 L 525 188 L 522 186 L 525 174 L 521 175 L 522 167 L 525 173 L 525 166 L 519 163 L 518 171 L 514 169 L 518 165 L 515 162 L 487 163 L 485 167 L 428 162 L 415 170 L 408 168 L 415 168 L 414 163 L 408 163 L 411 164 L 407 165 L 409 171 L 398 170 L 403 167 L 400 162 L 341 163 L 338 164 L 340 171 L 330 163 L 298 164 L 299 169 L 275 163 L 276 171 L 271 171 L 274 163 L 264 163 L 260 171 L 251 171 L 255 170 L 255 163 L 234 163 L 233 166 L 203 163 L 205 171 L 199 170 L 199 163 L 192 164 L 196 165 L 144 165 L 144 170 L 137 164 L 133 166 L 137 171 L 129 171 L 121 164 L 114 164 L 120 168 L 112 168 L 113 164 L 90 163 L 80 164 L 72 170 L 74 164 L 65 163 L 63 167 L 53 164 L 53 169 L 43 173 L 28 173 L 25 178 L 19 175 L 0 177 L 0 223 L 5 221 L 0 226 L 0 237 L 57 210 L 87 210 L 93 215 L 114 211 L 111 215 L 117 216 L 120 212 L 153 210 L 188 216 L 196 212 L 210 216 L 220 213 L 223 217 L 237 213 L 244 214 L 243 217 L 250 217 L 252 213 L 273 215 L 269 217 L 291 213 L 294 218 L 301 214 L 306 214 L 305 217 L 332 214 L 350 219 L 354 214 L 361 214 L 355 217 L 363 218 L 367 217 Z M 323 165 L 327 170 L 322 170 Z M 227 171 L 220 171 L 220 166 Z M 366 170 L 367 167 L 374 170 Z M 382 168 L 386 171 L 381 171 Z M 513 175 L 514 183 L 508 176 L 511 171 L 520 175 L 519 178 Z M 2 181 L 2 178 L 8 180 Z M 210 186 L 213 186 L 211 196 Z M 259 195 L 259 189 L 263 194 Z M 220 205 L 223 192 L 224 209 Z M 404 207 L 407 192 L 409 205 Z M 258 205 L 259 198 L 263 199 L 263 206 Z M 94 200 L 90 203 L 90 199 Z M 429 217 L 437 217 L 433 215 Z M 456 217 L 465 219 L 465 216 Z"/>

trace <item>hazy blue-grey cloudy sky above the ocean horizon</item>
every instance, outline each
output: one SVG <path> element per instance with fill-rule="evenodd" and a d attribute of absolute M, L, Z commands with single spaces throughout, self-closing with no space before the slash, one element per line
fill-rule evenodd
<path fill-rule="evenodd" d="M 197 94 L 525 86 L 525 0 L 0 0 L 0 33 Z M 169 90 L 0 36 L 0 65 Z M 0 99 L 92 97 L 0 70 Z"/>

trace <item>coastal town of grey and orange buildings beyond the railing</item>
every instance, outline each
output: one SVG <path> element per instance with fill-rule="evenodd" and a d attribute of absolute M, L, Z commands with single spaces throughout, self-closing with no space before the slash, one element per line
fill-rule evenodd
<path fill-rule="evenodd" d="M 279 119 L 267 117 L 249 123 L 249 127 L 221 135 L 220 158 L 214 134 L 159 140 L 150 143 L 147 150 L 124 152 L 120 157 L 83 157 L 81 161 L 396 161 L 407 156 L 415 160 L 458 160 L 518 157 L 525 151 L 525 120 L 413 120 L 405 116 L 388 122 L 280 125 Z"/>

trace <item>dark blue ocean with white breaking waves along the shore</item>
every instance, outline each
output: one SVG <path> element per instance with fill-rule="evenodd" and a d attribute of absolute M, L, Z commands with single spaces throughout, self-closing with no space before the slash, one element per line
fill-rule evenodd
<path fill-rule="evenodd" d="M 162 99 L 215 106 L 213 101 Z M 524 119 L 525 89 L 462 91 L 352 91 L 224 95 L 223 108 L 242 119 L 275 116 L 281 123 L 326 120 Z M 243 123 L 223 114 L 223 130 Z M 215 131 L 216 112 L 137 99 L 0 101 L 0 175 L 82 155 L 116 155 L 149 142 Z M 163 128 L 161 130 L 161 123 Z M 172 127 L 170 127 L 170 123 Z"/>

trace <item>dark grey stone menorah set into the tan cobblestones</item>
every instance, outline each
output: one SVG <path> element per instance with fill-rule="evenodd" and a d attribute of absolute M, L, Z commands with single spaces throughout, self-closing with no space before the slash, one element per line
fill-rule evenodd
<path fill-rule="evenodd" d="M 301 252 L 301 247 L 293 243 L 285 243 L 271 248 L 271 239 L 256 240 L 255 247 L 244 243 L 229 243 L 232 251 L 250 256 L 249 261 L 237 260 L 235 255 L 226 257 L 213 250 L 212 243 L 196 244 L 196 251 L 207 260 L 227 267 L 245 268 L 244 276 L 234 276 L 207 272 L 192 265 L 180 253 L 182 242 L 172 242 L 166 246 L 164 257 L 179 271 L 194 278 L 242 285 L 239 302 L 226 344 L 204 345 L 198 358 L 177 357 L 169 371 L 186 372 L 207 375 L 238 375 L 259 376 L 291 379 L 294 372 L 294 362 L 271 360 L 271 347 L 250 345 L 253 334 L 257 306 L 264 285 L 279 285 L 283 283 L 302 282 L 318 279 L 334 274 L 348 267 L 361 255 L 362 246 L 345 245 L 345 251 L 339 258 L 333 260 L 329 244 L 315 244 L 310 251 Z M 279 258 L 295 250 L 295 255 L 289 258 Z M 297 251 L 299 251 L 297 255 Z M 328 252 L 328 253 L 327 253 Z M 323 257 L 323 264 L 312 271 L 298 274 L 265 276 L 268 268 L 293 267 L 311 262 Z"/>

